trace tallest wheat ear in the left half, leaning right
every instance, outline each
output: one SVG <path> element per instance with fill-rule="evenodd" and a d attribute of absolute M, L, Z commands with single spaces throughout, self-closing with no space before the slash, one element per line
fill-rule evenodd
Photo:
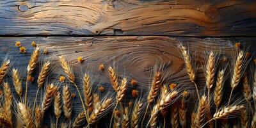
<path fill-rule="evenodd" d="M 33 51 L 33 54 L 31 54 L 31 58 L 28 63 L 28 67 L 27 67 L 28 76 L 31 76 L 31 74 L 33 74 L 36 68 L 36 63 L 38 62 L 39 55 L 40 55 L 39 48 L 36 47 L 35 51 Z"/>

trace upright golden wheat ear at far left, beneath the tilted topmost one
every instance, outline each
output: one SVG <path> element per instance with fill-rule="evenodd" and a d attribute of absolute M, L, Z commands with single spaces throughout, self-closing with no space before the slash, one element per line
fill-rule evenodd
<path fill-rule="evenodd" d="M 4 105 L 3 105 L 3 111 L 6 114 L 6 118 L 9 120 L 9 122 L 12 124 L 12 90 L 8 83 L 3 84 L 4 89 Z"/>

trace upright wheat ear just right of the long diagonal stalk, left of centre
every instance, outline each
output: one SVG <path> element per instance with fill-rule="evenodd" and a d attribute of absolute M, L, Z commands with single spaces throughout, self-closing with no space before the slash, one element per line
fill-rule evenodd
<path fill-rule="evenodd" d="M 84 102 L 85 102 L 85 106 L 89 109 L 93 107 L 93 95 L 92 95 L 92 85 L 90 84 L 90 76 L 88 76 L 88 74 L 84 74 L 83 85 L 84 85 L 84 97 L 85 97 Z"/>

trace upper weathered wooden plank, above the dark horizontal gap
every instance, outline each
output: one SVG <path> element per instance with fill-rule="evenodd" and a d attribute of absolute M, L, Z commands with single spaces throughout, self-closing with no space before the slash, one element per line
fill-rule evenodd
<path fill-rule="evenodd" d="M 255 1 L 0 1 L 0 35 L 255 36 Z"/>

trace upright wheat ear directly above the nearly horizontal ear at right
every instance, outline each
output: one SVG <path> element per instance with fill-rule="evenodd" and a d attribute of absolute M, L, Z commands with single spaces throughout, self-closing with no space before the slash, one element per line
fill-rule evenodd
<path fill-rule="evenodd" d="M 222 100 L 222 95 L 223 95 L 222 90 L 223 90 L 223 85 L 224 85 L 224 73 L 225 73 L 225 70 L 218 71 L 216 87 L 214 90 L 214 98 L 213 98 L 216 108 L 220 107 L 220 103 Z"/>

